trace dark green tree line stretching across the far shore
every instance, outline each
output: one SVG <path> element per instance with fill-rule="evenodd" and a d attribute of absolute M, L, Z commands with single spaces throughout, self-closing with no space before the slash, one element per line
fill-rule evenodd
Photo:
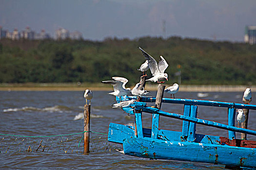
<path fill-rule="evenodd" d="M 125 77 L 139 81 L 137 70 L 145 59 L 141 47 L 157 61 L 162 55 L 169 67 L 168 84 L 256 84 L 256 45 L 170 37 L 133 40 L 0 40 L 0 83 L 100 82 Z M 147 71 L 148 78 L 151 73 Z"/>

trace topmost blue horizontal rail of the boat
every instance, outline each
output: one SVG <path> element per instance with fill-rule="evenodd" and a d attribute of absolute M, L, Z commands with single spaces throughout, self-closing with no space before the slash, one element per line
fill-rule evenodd
<path fill-rule="evenodd" d="M 135 96 L 126 96 L 126 99 L 136 99 Z M 141 102 L 156 102 L 154 97 L 142 97 Z M 170 99 L 163 98 L 162 102 L 165 103 L 178 103 L 187 105 L 204 105 L 204 106 L 215 106 L 215 107 L 235 107 L 236 109 L 252 109 L 256 110 L 256 105 L 254 104 L 240 104 L 234 102 L 217 102 L 217 101 L 204 101 L 204 100 L 192 100 L 192 99 Z"/>

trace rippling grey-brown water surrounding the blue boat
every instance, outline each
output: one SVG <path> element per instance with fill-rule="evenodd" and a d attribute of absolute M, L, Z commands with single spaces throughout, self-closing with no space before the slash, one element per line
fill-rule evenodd
<path fill-rule="evenodd" d="M 239 102 L 241 92 L 207 93 L 178 92 L 177 98 Z M 156 96 L 151 92 L 150 96 Z M 115 151 L 122 145 L 110 143 L 106 135 L 90 134 L 90 153 L 82 154 L 83 92 L 74 91 L 0 91 L 0 133 L 21 136 L 0 135 L 0 169 L 170 169 L 170 170 L 219 170 L 221 165 L 148 160 Z M 165 97 L 169 97 L 166 95 Z M 198 97 L 199 96 L 199 97 Z M 200 98 L 203 97 L 203 98 Z M 253 96 L 252 104 L 256 96 Z M 112 109 L 115 103 L 107 91 L 94 91 L 91 107 L 90 130 L 107 134 L 110 122 L 134 124 L 120 109 Z M 150 105 L 150 104 L 149 104 Z M 162 110 L 182 113 L 183 105 L 162 104 Z M 256 111 L 250 111 L 249 129 L 256 129 Z M 198 118 L 227 124 L 227 109 L 198 107 Z M 182 121 L 160 117 L 159 127 L 181 131 Z M 143 126 L 151 127 L 151 115 L 143 114 Z M 197 133 L 227 136 L 227 131 L 197 125 Z M 67 135 L 66 134 L 75 134 Z M 26 137 L 52 136 L 54 137 Z M 240 136 L 239 133 L 236 136 Z M 248 139 L 256 140 L 255 136 Z M 41 146 L 39 144 L 41 142 Z M 29 150 L 29 146 L 31 152 Z M 43 147 L 42 147 L 43 146 Z"/>

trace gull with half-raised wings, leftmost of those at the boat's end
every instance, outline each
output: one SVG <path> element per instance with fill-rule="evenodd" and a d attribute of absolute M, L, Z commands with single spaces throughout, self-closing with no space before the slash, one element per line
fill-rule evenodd
<path fill-rule="evenodd" d="M 101 81 L 101 83 L 114 85 L 114 91 L 111 93 L 108 93 L 108 94 L 118 96 L 118 97 L 131 94 L 132 89 L 125 88 L 125 85 L 127 82 L 128 82 L 128 80 L 123 77 L 112 77 L 112 80 Z M 121 100 L 121 98 L 120 98 L 120 100 Z"/>

